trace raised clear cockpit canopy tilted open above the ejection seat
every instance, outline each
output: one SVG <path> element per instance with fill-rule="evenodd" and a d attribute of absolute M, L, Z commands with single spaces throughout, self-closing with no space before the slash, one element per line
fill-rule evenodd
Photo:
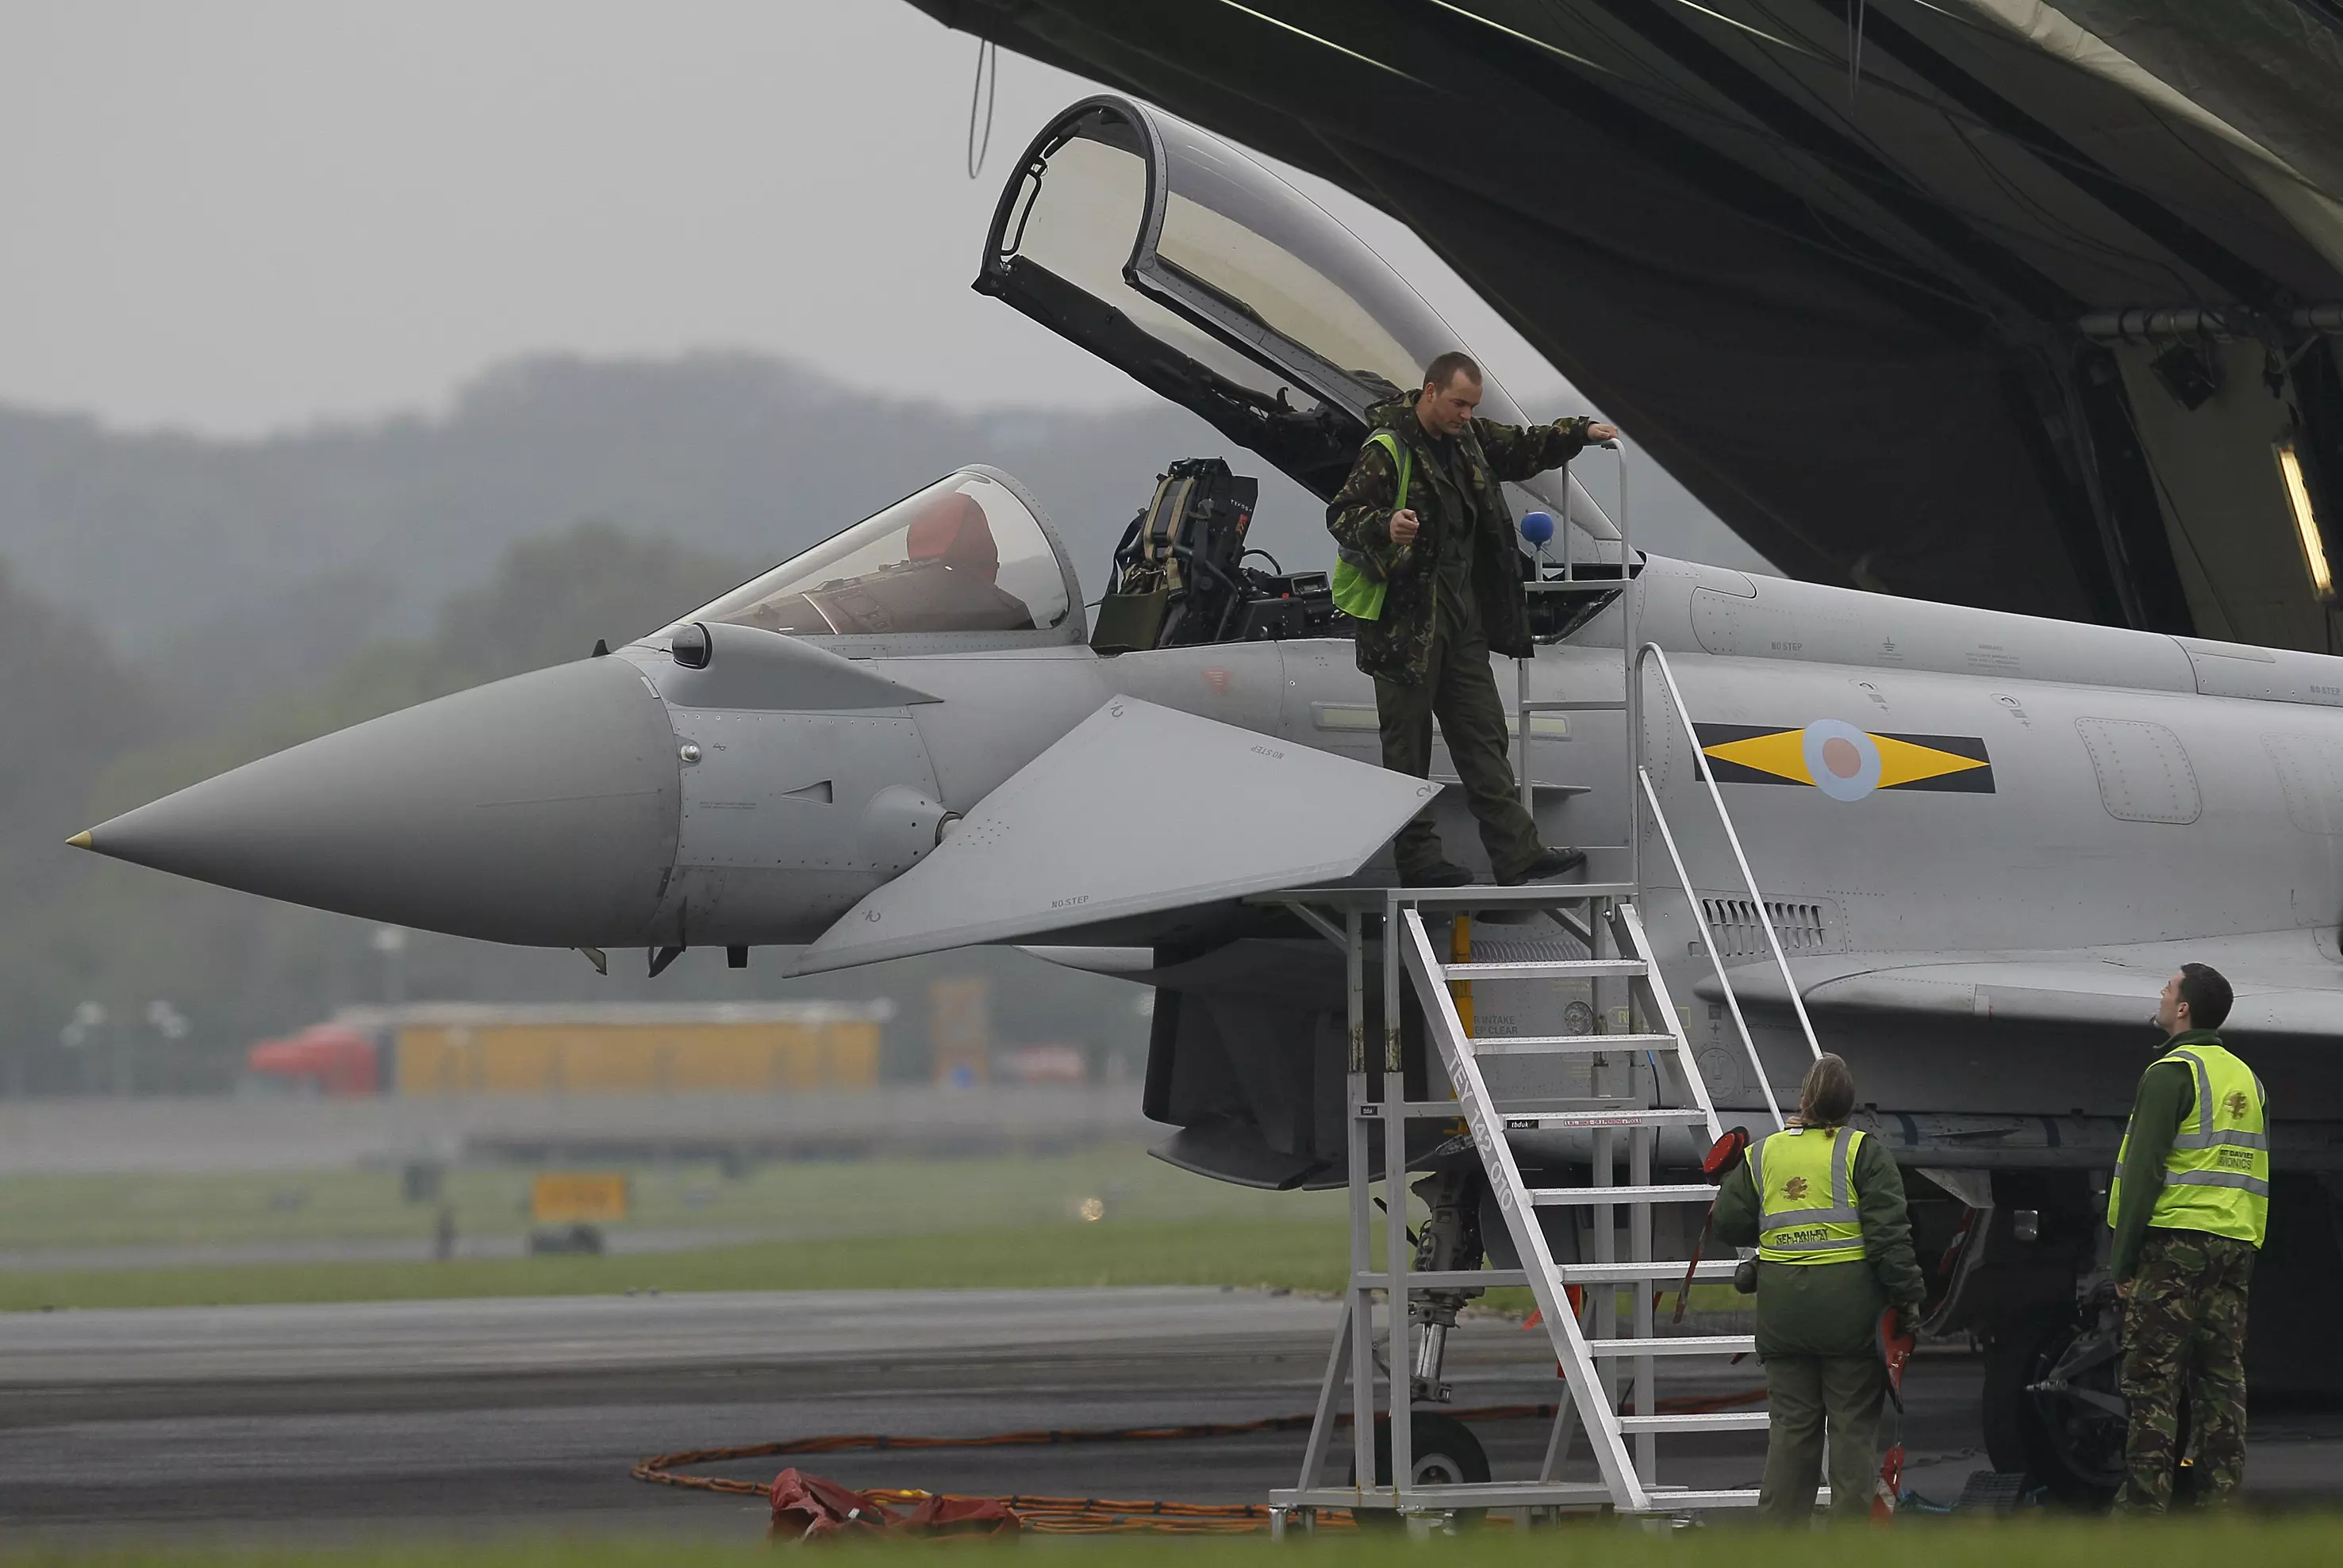
<path fill-rule="evenodd" d="M 982 293 L 1333 497 L 1366 410 L 1464 349 L 1357 234 L 1258 159 L 1125 98 L 1087 98 L 1026 148 L 984 241 Z M 1523 422 L 1490 377 L 1481 413 Z M 1560 476 L 1521 485 L 1563 511 Z M 1584 492 L 1570 516 L 1617 537 Z"/>

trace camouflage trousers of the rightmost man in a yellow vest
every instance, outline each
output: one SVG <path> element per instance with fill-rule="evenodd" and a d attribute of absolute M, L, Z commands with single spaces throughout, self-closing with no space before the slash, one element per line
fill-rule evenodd
<path fill-rule="evenodd" d="M 2149 1228 L 2123 1308 L 2123 1495 L 2139 1514 L 2172 1507 L 2179 1406 L 2188 1399 L 2195 1495 L 2226 1502 L 2245 1481 L 2245 1294 L 2254 1245 Z"/>

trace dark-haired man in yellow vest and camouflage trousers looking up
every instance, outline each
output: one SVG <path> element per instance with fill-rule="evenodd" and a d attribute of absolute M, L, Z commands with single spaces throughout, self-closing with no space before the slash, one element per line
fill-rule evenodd
<path fill-rule="evenodd" d="M 2198 1498 L 2226 1502 L 2245 1481 L 2245 1294 L 2270 1216 L 2270 1125 L 2261 1080 L 2214 1034 L 2228 1003 L 2202 963 L 2165 982 L 2165 1050 L 2139 1073 L 2106 1193 L 2130 1406 L 2118 1505 L 2142 1514 L 2172 1505 L 2184 1388 Z"/>

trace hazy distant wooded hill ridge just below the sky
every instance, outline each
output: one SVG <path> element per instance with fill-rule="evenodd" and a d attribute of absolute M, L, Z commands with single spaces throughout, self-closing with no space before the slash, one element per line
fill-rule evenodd
<path fill-rule="evenodd" d="M 129 654 L 227 642 L 314 668 L 330 645 L 419 633 L 506 546 L 586 518 L 771 565 L 963 462 L 1040 495 L 1094 595 L 1162 464 L 1207 452 L 1228 443 L 1169 405 L 956 413 L 747 354 L 525 359 L 443 415 L 267 441 L 0 408 L 0 558 Z M 1324 555 L 1317 502 L 1230 457 L 1263 473 L 1261 541 Z M 1589 462 L 1607 488 L 1610 459 Z M 1638 518 L 1652 548 L 1750 560 L 1659 476 Z"/>

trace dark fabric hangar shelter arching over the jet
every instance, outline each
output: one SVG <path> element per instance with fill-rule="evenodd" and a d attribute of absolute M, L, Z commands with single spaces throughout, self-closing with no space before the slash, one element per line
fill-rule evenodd
<path fill-rule="evenodd" d="M 914 0 L 1406 220 L 1785 572 L 2336 652 L 2343 0 Z"/>

